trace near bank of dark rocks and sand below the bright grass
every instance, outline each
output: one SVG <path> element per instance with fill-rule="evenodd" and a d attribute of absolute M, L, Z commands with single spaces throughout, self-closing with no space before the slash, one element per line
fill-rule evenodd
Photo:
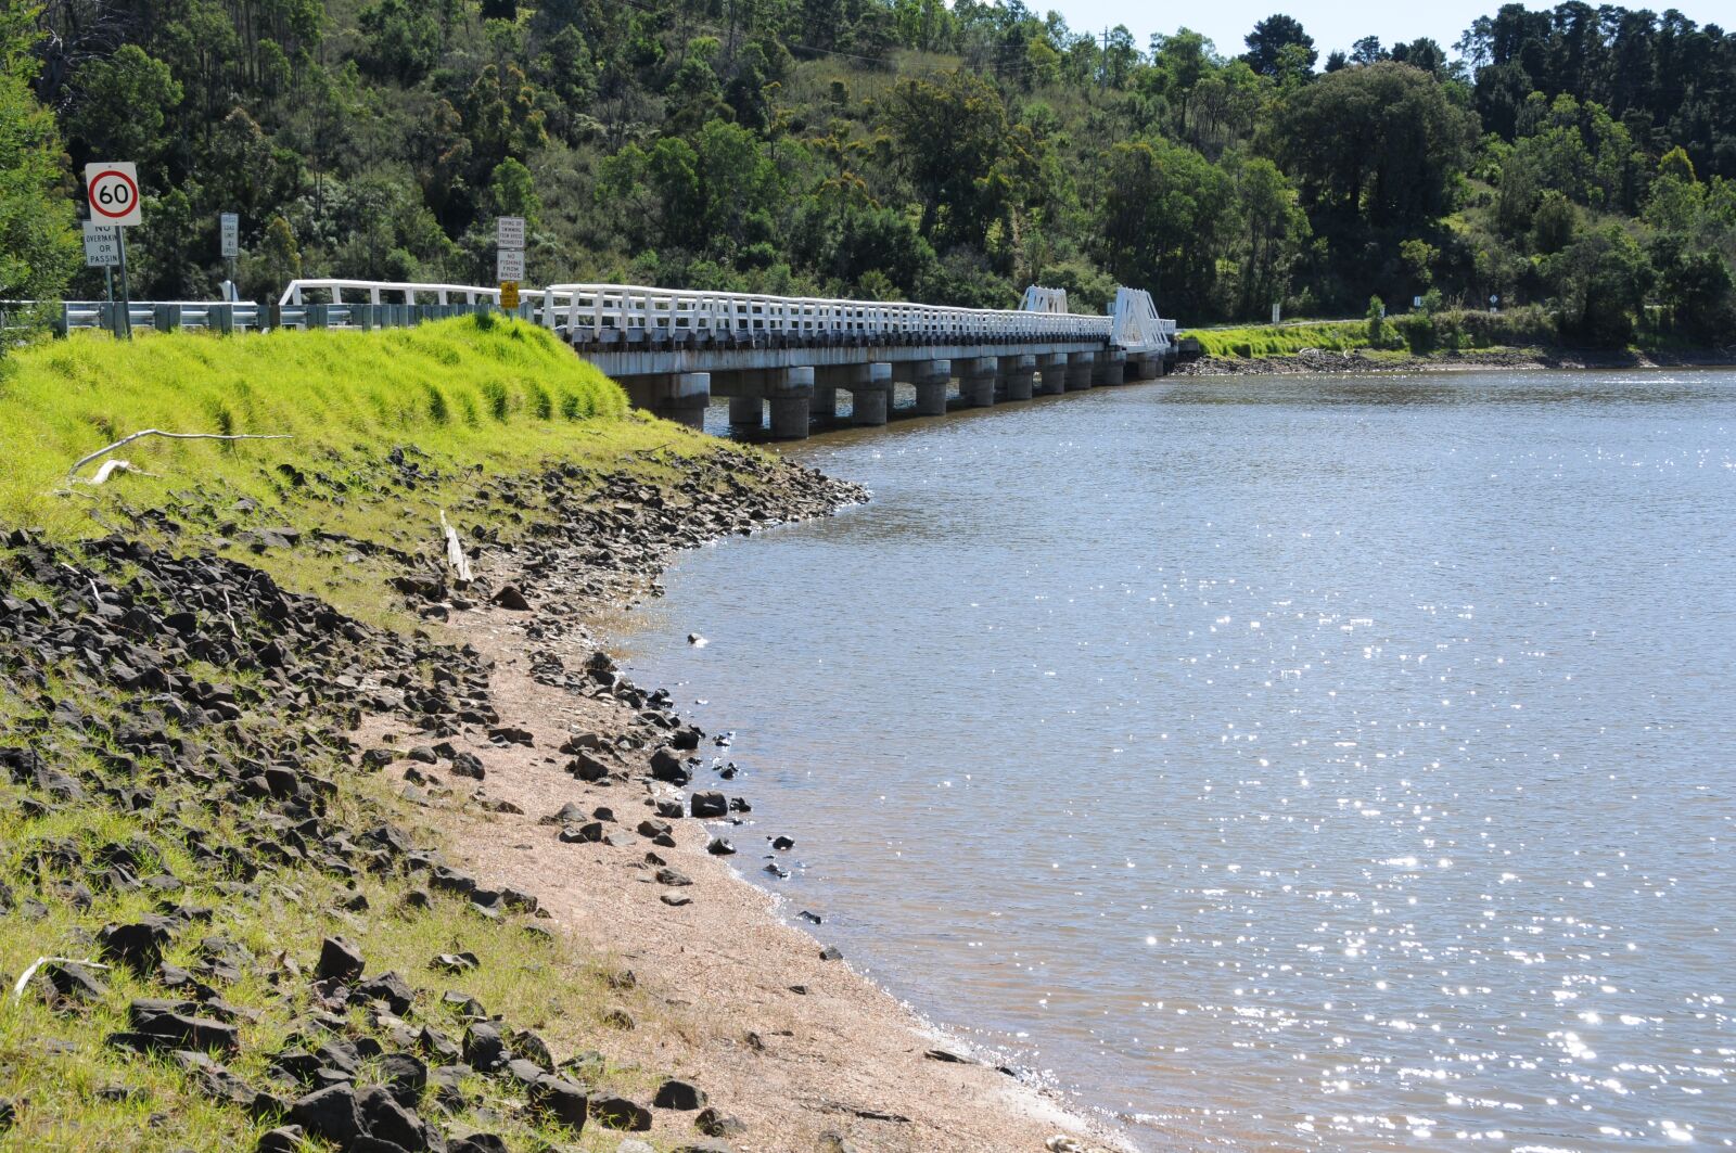
<path fill-rule="evenodd" d="M 736 451 L 654 483 L 484 484 L 476 509 L 523 509 L 524 531 L 474 528 L 474 582 L 394 557 L 382 597 L 425 632 L 191 540 L 7 538 L 0 924 L 21 992 L 0 1130 L 283 1153 L 1083 1148 L 1019 1070 L 937 1047 L 769 915 L 727 868 L 752 809 L 736 768 L 590 641 L 675 550 L 863 493 Z M 793 844 L 750 835 L 776 879 Z M 613 1130 L 641 1137 L 595 1144 Z"/>

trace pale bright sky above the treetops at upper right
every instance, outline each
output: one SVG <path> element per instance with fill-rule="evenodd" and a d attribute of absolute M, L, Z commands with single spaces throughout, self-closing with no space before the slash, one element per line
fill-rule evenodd
<path fill-rule="evenodd" d="M 1285 12 L 1302 21 L 1307 35 L 1314 36 L 1321 63 L 1333 49 L 1349 50 L 1356 40 L 1375 35 L 1380 43 L 1415 40 L 1417 36 L 1434 36 L 1453 56 L 1453 42 L 1479 16 L 1495 16 L 1502 0 L 1430 0 L 1411 7 L 1408 3 L 1371 3 L 1370 0 L 1212 0 L 1205 7 L 1182 3 L 1151 3 L 1151 0 L 1026 0 L 1033 12 L 1043 14 L 1050 9 L 1061 12 L 1068 26 L 1075 31 L 1102 33 L 1104 28 L 1127 24 L 1134 40 L 1146 49 L 1151 33 L 1174 33 L 1177 28 L 1193 28 L 1205 33 L 1217 43 L 1224 56 L 1238 56 L 1245 49 L 1241 38 L 1246 36 L 1257 21 Z M 1597 7 L 1599 0 L 1590 0 Z M 1526 0 L 1533 10 L 1552 9 L 1554 3 Z M 1679 9 L 1700 24 L 1720 24 L 1729 31 L 1736 24 L 1736 12 L 1731 0 L 1628 0 L 1623 7 Z"/>

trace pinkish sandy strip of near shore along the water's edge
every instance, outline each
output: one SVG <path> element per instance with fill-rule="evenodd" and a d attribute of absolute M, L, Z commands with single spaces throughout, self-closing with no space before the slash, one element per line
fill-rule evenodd
<path fill-rule="evenodd" d="M 776 469 L 807 479 L 793 504 L 773 498 L 778 516 L 767 526 L 866 500 L 856 486 L 800 465 Z M 681 550 L 746 530 L 731 517 L 727 498 L 668 509 L 660 488 L 616 484 L 625 484 L 613 493 L 616 509 L 627 497 L 649 512 L 634 524 L 637 557 L 595 563 L 602 524 L 580 504 L 552 542 L 528 554 L 484 554 L 479 563 L 498 566 L 481 578 L 484 589 L 509 582 L 529 608 L 476 603 L 446 622 L 453 639 L 491 665 L 498 726 L 528 736 L 528 743 L 462 745 L 486 766 L 488 783 L 477 792 L 493 811 L 431 813 L 457 856 L 483 875 L 535 891 L 575 943 L 620 959 L 642 990 L 665 997 L 672 1021 L 625 1033 L 623 1049 L 644 1059 L 656 1052 L 663 1063 L 677 1056 L 746 1123 L 741 1148 L 1130 1150 L 1127 1137 L 1076 1111 L 1059 1090 L 972 1056 L 847 959 L 833 959 L 821 939 L 779 915 L 781 894 L 753 884 L 752 872 L 785 858 L 764 844 L 774 830 L 736 833 L 736 806 L 748 811 L 752 801 L 703 764 L 707 752 L 722 748 L 677 717 L 667 691 L 621 679 L 595 636 L 602 616 L 618 618 L 656 596 Z M 366 722 L 363 731 L 387 735 Z M 667 738 L 686 754 L 691 787 L 677 783 L 681 769 L 667 764 L 651 778 L 634 771 L 648 752 L 668 748 Z M 556 748 L 566 771 L 550 757 Z M 392 776 L 413 783 L 427 774 L 408 764 Z M 722 794 L 729 814 L 675 816 L 689 792 Z M 613 820 L 582 821 L 576 832 L 571 821 L 550 823 L 568 804 L 592 814 L 601 806 Z M 661 835 L 644 837 L 660 825 Z M 734 853 L 708 851 L 717 839 Z M 502 851 L 502 840 L 512 847 Z M 684 880 L 660 884 L 663 868 Z M 705 950 L 719 941 L 729 946 Z M 707 1004 L 752 1005 L 759 1028 L 717 1028 L 707 1021 Z"/>

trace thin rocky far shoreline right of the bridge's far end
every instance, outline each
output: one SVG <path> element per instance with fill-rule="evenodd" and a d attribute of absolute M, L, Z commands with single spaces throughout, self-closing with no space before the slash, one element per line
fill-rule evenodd
<path fill-rule="evenodd" d="M 1601 352 L 1595 349 L 1503 349 L 1436 352 L 1430 356 L 1368 356 L 1363 351 L 1304 349 L 1292 356 L 1201 356 L 1175 368 L 1175 377 L 1281 377 L 1302 373 L 1382 375 L 1417 372 L 1531 372 L 1623 368 L 1729 368 L 1736 351 Z"/>

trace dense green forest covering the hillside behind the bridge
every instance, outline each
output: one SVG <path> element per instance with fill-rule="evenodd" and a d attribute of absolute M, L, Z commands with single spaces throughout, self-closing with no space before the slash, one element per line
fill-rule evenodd
<path fill-rule="evenodd" d="M 1453 45 L 1288 16 L 1141 45 L 1021 0 L 3 0 L 0 299 L 92 297 L 78 172 L 134 160 L 141 299 L 625 281 L 1187 325 L 1486 307 L 1729 344 L 1736 33 L 1576 0 Z"/>

